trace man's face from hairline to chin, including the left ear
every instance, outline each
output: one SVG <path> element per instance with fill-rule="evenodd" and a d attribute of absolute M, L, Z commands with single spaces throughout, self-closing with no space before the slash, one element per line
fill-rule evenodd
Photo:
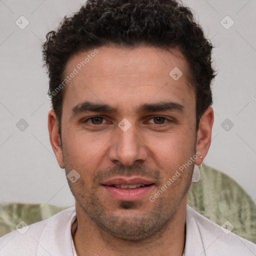
<path fill-rule="evenodd" d="M 195 94 L 177 50 L 97 50 L 67 62 L 66 75 L 78 72 L 65 87 L 62 148 L 49 113 L 51 143 L 66 174 L 80 175 L 67 179 L 77 211 L 116 237 L 145 239 L 162 231 L 186 199 L 194 162 L 172 177 L 198 150 Z M 178 79 L 169 74 L 174 67 L 182 71 Z"/>

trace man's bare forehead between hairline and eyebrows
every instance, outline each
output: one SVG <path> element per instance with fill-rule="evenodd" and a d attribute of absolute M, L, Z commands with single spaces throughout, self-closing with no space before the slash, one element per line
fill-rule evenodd
<path fill-rule="evenodd" d="M 159 100 L 194 103 L 188 64 L 176 49 L 102 46 L 72 56 L 65 76 L 71 73 L 63 108 L 88 99 L 120 108 Z"/>

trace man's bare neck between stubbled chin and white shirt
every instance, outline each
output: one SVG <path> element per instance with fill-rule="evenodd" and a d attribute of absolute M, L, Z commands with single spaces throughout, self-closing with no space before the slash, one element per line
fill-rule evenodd
<path fill-rule="evenodd" d="M 181 256 L 185 243 L 186 196 L 179 204 L 175 216 L 162 231 L 146 240 L 130 241 L 120 239 L 99 229 L 76 202 L 76 223 L 73 240 L 78 256 L 142 256 L 147 254 Z"/>

